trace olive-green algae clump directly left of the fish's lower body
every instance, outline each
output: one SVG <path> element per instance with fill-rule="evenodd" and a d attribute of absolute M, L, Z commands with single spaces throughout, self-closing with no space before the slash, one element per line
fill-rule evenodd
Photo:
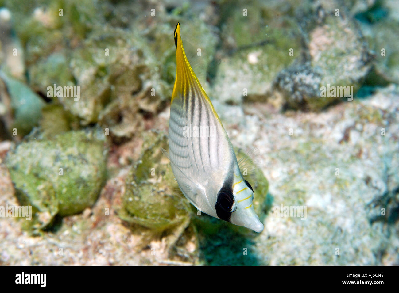
<path fill-rule="evenodd" d="M 189 224 L 190 210 L 189 203 L 174 186 L 169 160 L 161 151 L 161 147 L 168 147 L 167 137 L 163 133 L 145 132 L 143 139 L 140 159 L 126 177 L 118 214 L 122 220 L 154 232 L 177 229 L 174 234 L 178 237 Z"/>

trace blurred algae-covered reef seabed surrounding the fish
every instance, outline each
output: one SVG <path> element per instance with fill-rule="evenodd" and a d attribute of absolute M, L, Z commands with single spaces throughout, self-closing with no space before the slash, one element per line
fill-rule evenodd
<path fill-rule="evenodd" d="M 257 149 L 259 234 L 161 152 L 177 22 Z M 0 0 L 0 265 L 399 265 L 398 28 L 397 0 Z"/>

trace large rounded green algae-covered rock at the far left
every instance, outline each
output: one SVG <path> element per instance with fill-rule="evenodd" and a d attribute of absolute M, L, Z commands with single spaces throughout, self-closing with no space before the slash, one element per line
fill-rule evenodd
<path fill-rule="evenodd" d="M 69 131 L 11 149 L 6 165 L 16 196 L 35 213 L 29 228 L 38 231 L 57 214 L 93 205 L 106 177 L 106 158 L 104 139 L 94 131 Z"/>

